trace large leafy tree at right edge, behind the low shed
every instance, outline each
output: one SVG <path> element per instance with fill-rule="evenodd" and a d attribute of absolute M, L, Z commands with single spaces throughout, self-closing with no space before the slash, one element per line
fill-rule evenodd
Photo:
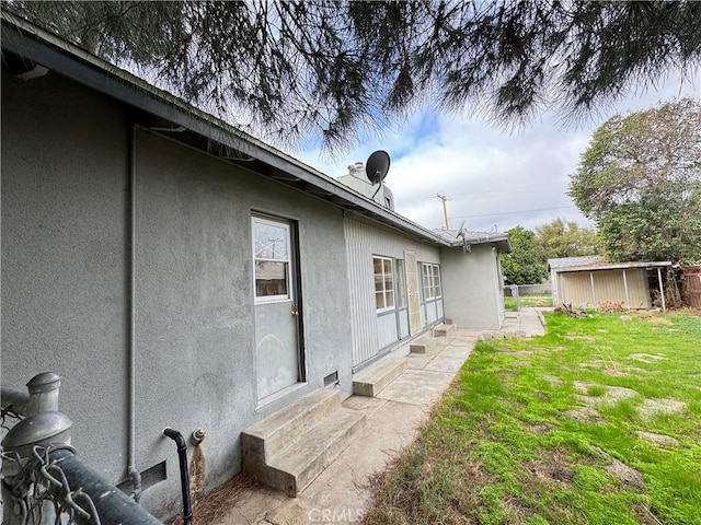
<path fill-rule="evenodd" d="M 596 221 L 611 260 L 701 260 L 701 102 L 611 117 L 568 195 Z"/>

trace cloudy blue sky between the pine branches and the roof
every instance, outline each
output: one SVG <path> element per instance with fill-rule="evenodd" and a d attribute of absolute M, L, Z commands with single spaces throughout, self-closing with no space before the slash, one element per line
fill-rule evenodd
<path fill-rule="evenodd" d="M 349 164 L 365 162 L 372 151 L 386 150 L 392 160 L 386 182 L 397 211 L 429 229 L 444 223 L 437 194 L 449 199 L 453 229 L 463 220 L 469 230 L 499 232 L 516 225 L 535 230 L 556 218 L 591 225 L 565 191 L 593 132 L 617 113 L 645 109 L 675 96 L 701 97 L 698 71 L 693 78 L 670 75 L 657 89 L 633 93 L 570 126 L 544 114 L 508 132 L 485 119 L 423 109 L 404 125 L 337 154 L 341 160 L 315 148 L 295 156 L 335 178 Z"/>

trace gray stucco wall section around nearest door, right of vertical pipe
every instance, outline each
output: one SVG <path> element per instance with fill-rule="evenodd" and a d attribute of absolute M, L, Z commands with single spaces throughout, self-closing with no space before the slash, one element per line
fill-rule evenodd
<path fill-rule="evenodd" d="M 139 469 L 173 459 L 160 430 L 207 430 L 208 488 L 240 469 L 239 433 L 256 411 L 251 213 L 297 221 L 308 386 L 338 371 L 350 394 L 341 211 L 148 133 L 137 143 Z M 301 394 L 298 392 L 296 395 Z M 287 399 L 288 400 L 288 399 Z M 169 460 L 169 470 L 176 462 Z M 169 477 L 177 478 L 177 471 Z M 146 494 L 157 505 L 166 483 Z"/>

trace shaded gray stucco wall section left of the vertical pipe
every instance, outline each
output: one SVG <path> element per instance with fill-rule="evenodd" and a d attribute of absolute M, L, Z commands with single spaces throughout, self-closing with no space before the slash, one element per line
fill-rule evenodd
<path fill-rule="evenodd" d="M 129 128 L 55 74 L 2 74 L 2 385 L 64 376 L 73 444 L 112 480 L 127 450 Z"/>

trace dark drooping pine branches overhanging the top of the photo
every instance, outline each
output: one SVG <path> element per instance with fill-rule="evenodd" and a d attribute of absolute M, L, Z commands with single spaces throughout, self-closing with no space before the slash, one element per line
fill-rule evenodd
<path fill-rule="evenodd" d="M 346 147 L 418 104 L 572 119 L 701 60 L 701 2 L 2 1 L 268 140 Z M 148 73 L 148 74 L 147 74 Z"/>

